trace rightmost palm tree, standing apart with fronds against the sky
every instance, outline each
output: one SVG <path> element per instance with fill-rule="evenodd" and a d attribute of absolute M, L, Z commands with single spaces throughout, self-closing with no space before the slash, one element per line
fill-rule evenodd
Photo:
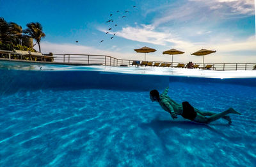
<path fill-rule="evenodd" d="M 24 30 L 24 33 L 31 36 L 36 40 L 36 44 L 38 44 L 39 52 L 41 52 L 40 41 L 41 38 L 45 37 L 45 33 L 43 32 L 43 27 L 39 22 L 31 22 L 27 24 L 27 29 Z M 33 47 L 36 45 L 34 44 Z"/>

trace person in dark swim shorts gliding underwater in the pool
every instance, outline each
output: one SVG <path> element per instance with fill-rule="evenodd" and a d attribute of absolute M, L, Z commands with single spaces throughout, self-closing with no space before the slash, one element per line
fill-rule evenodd
<path fill-rule="evenodd" d="M 159 95 L 157 90 L 150 91 L 150 99 L 152 102 L 159 102 L 164 111 L 170 113 L 173 119 L 177 118 L 177 115 L 181 115 L 183 118 L 199 123 L 210 123 L 220 118 L 223 118 L 227 120 L 228 123 L 231 123 L 232 121 L 230 116 L 227 116 L 228 114 L 241 115 L 241 113 L 237 112 L 232 107 L 226 111 L 223 111 L 222 113 L 217 114 L 200 111 L 199 109 L 192 107 L 189 102 L 182 102 L 182 104 L 178 104 L 174 100 L 170 99 L 170 97 L 168 97 L 168 89 L 169 88 L 167 87 L 161 95 Z"/>

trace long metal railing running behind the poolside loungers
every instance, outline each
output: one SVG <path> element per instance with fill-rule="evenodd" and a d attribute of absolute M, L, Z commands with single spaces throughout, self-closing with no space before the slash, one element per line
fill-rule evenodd
<path fill-rule="evenodd" d="M 131 66 L 133 61 L 141 60 L 124 60 L 117 59 L 106 55 L 95 55 L 95 54 L 53 54 L 54 61 L 60 63 L 77 63 L 84 65 L 100 64 L 105 66 Z M 152 61 L 154 63 L 172 63 L 168 61 Z M 182 62 L 173 62 L 171 67 L 177 66 Z M 187 62 L 188 63 L 188 62 Z M 184 63 L 185 65 L 187 63 Z M 194 63 L 199 65 L 198 68 L 203 68 L 205 65 L 212 65 L 210 70 L 253 70 L 256 63 Z"/>

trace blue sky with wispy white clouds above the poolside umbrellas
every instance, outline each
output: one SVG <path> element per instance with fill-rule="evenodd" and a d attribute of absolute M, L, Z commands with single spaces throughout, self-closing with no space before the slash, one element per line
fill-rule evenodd
<path fill-rule="evenodd" d="M 256 63 L 255 0 L 0 0 L 0 17 L 23 29 L 40 22 L 45 54 L 144 60 L 134 49 L 147 46 L 151 61 L 172 61 L 162 52 L 177 49 L 185 53 L 173 61 L 202 63 L 191 53 L 210 49 L 205 63 Z"/>

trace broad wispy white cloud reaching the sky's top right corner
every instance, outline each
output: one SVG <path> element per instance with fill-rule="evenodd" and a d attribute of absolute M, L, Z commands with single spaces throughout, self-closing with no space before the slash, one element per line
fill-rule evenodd
<path fill-rule="evenodd" d="M 200 22 L 255 15 L 253 0 L 189 0 L 182 6 L 172 6 L 172 8 L 166 6 L 161 10 L 165 10 L 165 12 L 154 19 L 154 26 L 159 26 L 172 20 L 179 22 L 196 20 L 196 22 Z M 152 12 L 156 12 L 156 10 L 152 10 Z"/>

